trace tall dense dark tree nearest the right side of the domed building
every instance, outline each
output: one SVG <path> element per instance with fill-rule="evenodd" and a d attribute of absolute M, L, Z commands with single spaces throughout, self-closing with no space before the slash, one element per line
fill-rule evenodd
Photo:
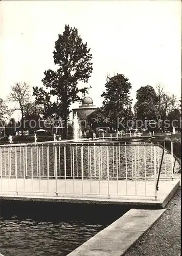
<path fill-rule="evenodd" d="M 123 120 L 123 124 L 132 118 L 130 98 L 131 83 L 123 74 L 117 74 L 113 77 L 107 77 L 105 83 L 105 92 L 101 97 L 104 98 L 103 109 L 109 124 L 112 127 L 118 127 L 118 120 Z"/>

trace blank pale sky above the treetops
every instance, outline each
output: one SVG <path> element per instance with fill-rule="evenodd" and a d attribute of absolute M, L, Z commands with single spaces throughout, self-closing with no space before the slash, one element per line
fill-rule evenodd
<path fill-rule="evenodd" d="M 53 51 L 64 25 L 78 28 L 93 54 L 89 96 L 100 106 L 107 73 L 132 84 L 164 84 L 181 94 L 181 1 L 1 1 L 1 95 L 14 82 L 42 86 L 54 67 Z M 72 107 L 77 107 L 78 103 Z"/>

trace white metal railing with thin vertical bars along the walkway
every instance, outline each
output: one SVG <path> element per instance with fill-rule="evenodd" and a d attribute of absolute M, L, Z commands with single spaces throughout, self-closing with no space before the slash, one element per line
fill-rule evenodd
<path fill-rule="evenodd" d="M 17 195 L 156 199 L 159 174 L 173 178 L 172 145 L 171 154 L 165 143 L 164 148 L 158 143 L 98 141 L 1 145 L 0 189 Z"/>

